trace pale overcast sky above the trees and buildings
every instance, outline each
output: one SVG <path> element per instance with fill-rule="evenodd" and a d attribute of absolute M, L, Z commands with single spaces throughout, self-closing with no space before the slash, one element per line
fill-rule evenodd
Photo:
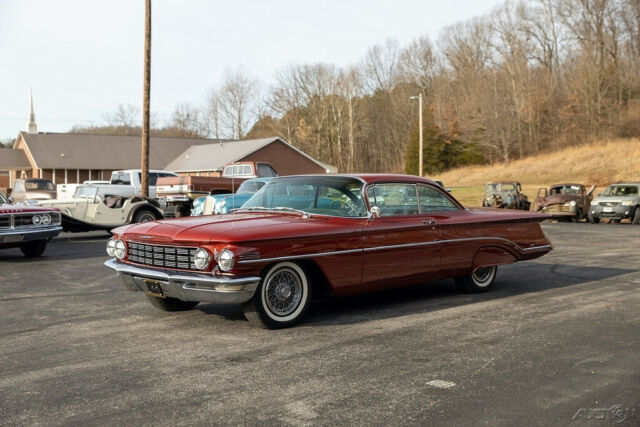
<path fill-rule="evenodd" d="M 354 64 L 386 38 L 401 45 L 489 12 L 498 0 L 154 0 L 151 109 L 201 104 L 225 68 L 264 84 L 293 63 Z M 0 140 L 26 130 L 33 88 L 40 132 L 103 124 L 142 106 L 143 0 L 0 0 Z"/>

